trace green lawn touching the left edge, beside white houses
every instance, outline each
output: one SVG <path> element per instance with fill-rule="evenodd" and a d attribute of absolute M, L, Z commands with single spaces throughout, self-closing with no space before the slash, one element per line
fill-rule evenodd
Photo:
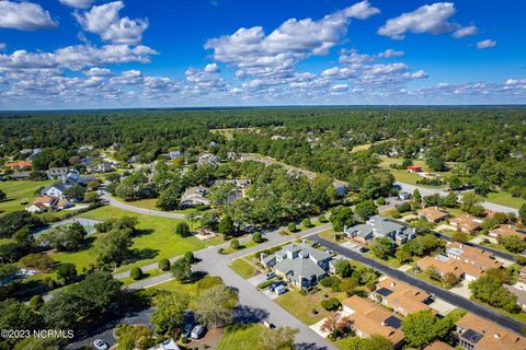
<path fill-rule="evenodd" d="M 35 200 L 35 191 L 43 187 L 53 184 L 55 180 L 34 182 L 34 180 L 15 180 L 15 182 L 0 182 L 0 189 L 8 195 L 8 199 L 0 201 L 0 214 L 8 212 L 24 210 Z M 27 200 L 27 205 L 21 205 L 22 199 Z"/>

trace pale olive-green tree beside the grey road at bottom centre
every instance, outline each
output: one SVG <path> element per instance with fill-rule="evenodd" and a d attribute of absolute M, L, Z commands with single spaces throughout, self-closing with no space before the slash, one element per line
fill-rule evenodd
<path fill-rule="evenodd" d="M 238 291 L 224 284 L 202 291 L 193 303 L 197 319 L 211 327 L 220 327 L 232 320 L 238 305 Z"/>

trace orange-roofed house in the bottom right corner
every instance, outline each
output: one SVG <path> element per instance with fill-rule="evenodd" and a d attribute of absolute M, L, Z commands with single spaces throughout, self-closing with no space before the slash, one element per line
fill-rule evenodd
<path fill-rule="evenodd" d="M 526 338 L 470 313 L 457 322 L 457 335 L 466 350 L 526 349 Z"/>

